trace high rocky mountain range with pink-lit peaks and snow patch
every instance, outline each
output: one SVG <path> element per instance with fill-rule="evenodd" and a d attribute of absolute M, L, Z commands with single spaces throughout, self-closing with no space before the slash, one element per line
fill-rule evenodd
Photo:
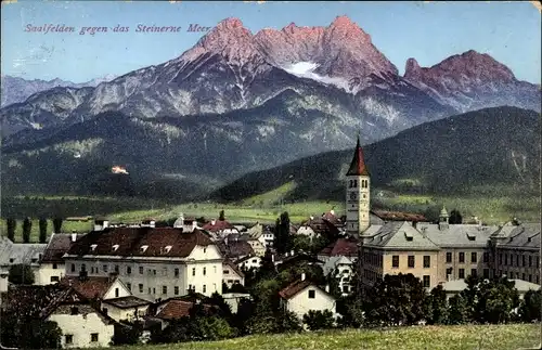
<path fill-rule="evenodd" d="M 351 146 L 359 132 L 370 143 L 495 105 L 540 112 L 540 87 L 474 51 L 430 68 L 411 59 L 400 76 L 346 16 L 255 35 L 227 18 L 177 59 L 0 109 L 2 180 L 17 173 L 28 186 L 29 159 L 43 171 L 47 158 L 81 176 L 93 163 L 120 164 L 146 180 L 223 182 Z"/>

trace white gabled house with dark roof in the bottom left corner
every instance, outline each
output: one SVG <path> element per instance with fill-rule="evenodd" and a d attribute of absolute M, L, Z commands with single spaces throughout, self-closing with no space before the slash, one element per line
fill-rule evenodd
<path fill-rule="evenodd" d="M 109 347 L 114 335 L 113 319 L 74 288 L 61 284 L 12 287 L 5 308 L 31 319 L 56 322 L 64 349 Z"/>

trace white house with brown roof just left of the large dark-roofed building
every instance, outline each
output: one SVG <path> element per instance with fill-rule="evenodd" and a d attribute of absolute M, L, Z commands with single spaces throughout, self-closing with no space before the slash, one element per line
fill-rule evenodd
<path fill-rule="evenodd" d="M 64 255 L 69 250 L 72 244 L 82 236 L 83 234 L 77 233 L 53 233 L 51 235 L 36 273 L 36 284 L 46 285 L 61 281 L 66 271 Z"/>

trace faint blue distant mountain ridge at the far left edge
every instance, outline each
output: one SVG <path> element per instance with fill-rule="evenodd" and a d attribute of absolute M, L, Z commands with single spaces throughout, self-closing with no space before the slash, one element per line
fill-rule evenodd
<path fill-rule="evenodd" d="M 47 91 L 53 88 L 66 87 L 66 88 L 85 88 L 85 87 L 96 87 L 101 82 L 109 81 L 115 78 L 114 75 L 106 75 L 101 78 L 94 78 L 86 82 L 72 82 L 62 79 L 52 80 L 26 80 L 21 77 L 12 77 L 9 75 L 2 75 L 1 77 L 1 107 L 5 107 L 13 103 L 25 102 L 26 99 L 35 93 Z"/>

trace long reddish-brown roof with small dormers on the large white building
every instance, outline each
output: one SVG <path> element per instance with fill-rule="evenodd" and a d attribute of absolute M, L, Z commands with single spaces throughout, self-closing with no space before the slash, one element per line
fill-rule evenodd
<path fill-rule="evenodd" d="M 183 232 L 172 228 L 111 228 L 85 235 L 72 245 L 68 254 L 185 258 L 196 245 L 212 244 L 212 241 L 197 229 Z M 92 245 L 95 245 L 94 249 Z M 145 249 L 142 248 L 144 246 Z M 168 246 L 171 247 L 169 250 L 166 249 Z"/>

